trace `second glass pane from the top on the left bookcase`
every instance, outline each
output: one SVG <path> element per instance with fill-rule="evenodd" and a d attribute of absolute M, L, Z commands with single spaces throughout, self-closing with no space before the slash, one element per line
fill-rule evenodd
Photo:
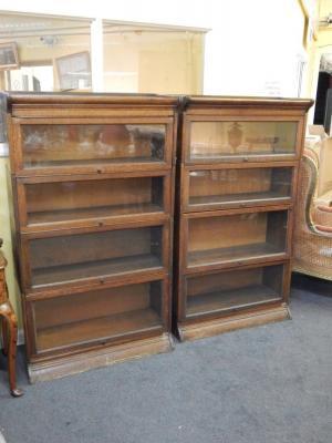
<path fill-rule="evenodd" d="M 28 225 L 160 212 L 163 181 L 135 177 L 28 184 Z"/>

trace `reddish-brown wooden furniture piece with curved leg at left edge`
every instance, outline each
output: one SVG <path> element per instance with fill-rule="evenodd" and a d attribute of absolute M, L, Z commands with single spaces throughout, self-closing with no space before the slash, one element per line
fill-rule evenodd
<path fill-rule="evenodd" d="M 2 239 L 0 238 L 0 248 Z M 2 351 L 8 357 L 9 388 L 12 396 L 21 396 L 23 392 L 17 387 L 17 340 L 18 319 L 8 298 L 4 269 L 7 260 L 0 250 L 0 329 L 2 331 Z"/>

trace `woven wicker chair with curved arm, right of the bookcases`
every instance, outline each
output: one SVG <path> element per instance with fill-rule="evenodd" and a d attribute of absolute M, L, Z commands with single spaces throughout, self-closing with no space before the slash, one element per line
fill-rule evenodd
<path fill-rule="evenodd" d="M 304 150 L 294 228 L 293 270 L 325 280 L 332 280 L 331 142 L 325 140 Z M 322 164 L 323 183 L 320 181 Z"/>

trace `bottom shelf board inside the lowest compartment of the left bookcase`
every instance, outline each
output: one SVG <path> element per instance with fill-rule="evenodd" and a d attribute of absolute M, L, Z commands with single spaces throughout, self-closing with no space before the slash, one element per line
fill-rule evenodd
<path fill-rule="evenodd" d="M 40 329 L 37 346 L 39 351 L 51 350 L 156 328 L 162 328 L 157 312 L 153 309 L 142 309 Z"/>

